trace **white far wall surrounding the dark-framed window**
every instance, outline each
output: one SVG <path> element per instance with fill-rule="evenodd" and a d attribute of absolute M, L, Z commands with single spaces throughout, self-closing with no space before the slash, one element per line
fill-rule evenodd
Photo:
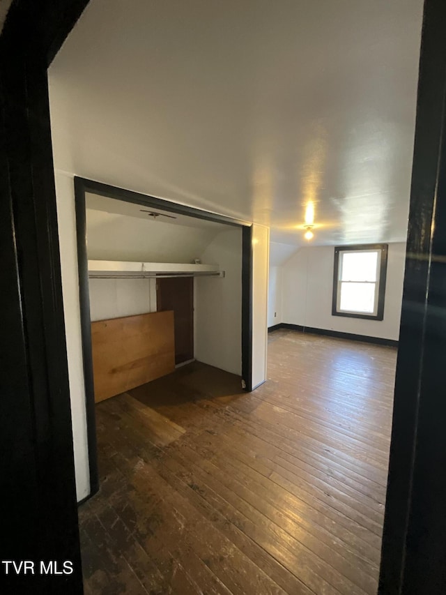
<path fill-rule="evenodd" d="M 405 243 L 390 243 L 384 319 L 332 316 L 333 246 L 300 248 L 282 267 L 282 322 L 369 337 L 398 340 Z"/>

